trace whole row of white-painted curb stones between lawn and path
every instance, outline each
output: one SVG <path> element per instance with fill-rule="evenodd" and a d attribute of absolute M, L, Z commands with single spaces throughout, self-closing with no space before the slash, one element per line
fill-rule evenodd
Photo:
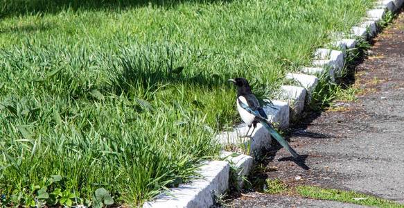
<path fill-rule="evenodd" d="M 367 39 L 377 35 L 377 22 L 383 19 L 387 10 L 396 12 L 403 6 L 404 0 L 381 0 L 375 6 L 375 9 L 367 12 L 366 21 L 354 26 L 351 31 L 354 37 Z M 376 28 L 376 29 L 375 29 Z M 356 40 L 353 39 L 340 39 L 331 43 L 332 46 L 340 48 L 342 51 L 335 51 L 330 49 L 320 49 L 319 51 L 326 51 L 327 55 L 320 55 L 317 60 L 313 60 L 313 67 L 302 67 L 302 73 L 320 76 L 328 73 L 331 80 L 334 79 L 334 73 L 340 73 L 344 67 L 344 50 L 355 48 Z M 331 51 L 331 52 L 330 52 Z M 330 52 L 330 53 L 328 53 Z M 282 128 L 287 128 L 291 119 L 297 119 L 298 115 L 304 110 L 306 94 L 310 94 L 311 90 L 315 88 L 318 83 L 318 78 L 315 76 L 290 73 L 287 78 L 293 78 L 302 86 L 281 86 L 281 96 L 286 101 L 272 101 L 274 108 L 269 105 L 264 106 L 269 120 L 271 122 L 279 123 Z M 313 78 L 315 77 L 315 78 Z M 316 80 L 317 79 L 317 80 Z M 315 81 L 316 80 L 316 81 Z M 292 107 L 289 107 L 292 106 Z M 231 132 L 223 132 L 217 135 L 216 139 L 222 144 L 247 144 L 248 139 L 240 140 L 240 135 L 247 132 L 248 127 L 239 125 L 238 128 Z M 262 130 L 260 126 L 254 130 L 252 135 L 250 153 L 254 153 L 260 148 L 270 146 L 270 138 L 266 131 Z M 266 139 L 265 139 L 266 138 Z M 227 143 L 225 142 L 227 141 Z M 254 146 L 254 148 L 252 148 Z M 249 174 L 252 168 L 253 158 L 247 155 L 237 155 L 236 157 L 229 158 L 233 153 L 222 152 L 221 155 L 227 157 L 231 164 L 238 170 L 238 185 L 243 185 L 242 177 Z M 215 195 L 224 193 L 229 187 L 229 162 L 225 161 L 209 161 L 200 168 L 200 175 L 202 179 L 193 180 L 188 184 L 181 184 L 178 188 L 170 189 L 170 194 L 162 193 L 151 202 L 145 202 L 144 208 L 149 207 L 210 207 L 213 205 Z"/>

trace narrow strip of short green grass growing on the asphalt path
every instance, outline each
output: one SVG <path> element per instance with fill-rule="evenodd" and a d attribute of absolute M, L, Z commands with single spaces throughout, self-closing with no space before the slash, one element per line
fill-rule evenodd
<path fill-rule="evenodd" d="M 349 202 L 356 205 L 371 207 L 404 207 L 391 200 L 369 196 L 355 191 L 342 191 L 337 189 L 323 189 L 320 187 L 301 186 L 296 188 L 297 193 L 308 198 L 319 200 L 334 200 L 339 202 Z"/>

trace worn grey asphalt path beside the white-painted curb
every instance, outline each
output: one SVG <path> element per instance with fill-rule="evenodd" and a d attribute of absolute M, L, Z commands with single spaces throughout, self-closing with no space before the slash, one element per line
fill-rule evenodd
<path fill-rule="evenodd" d="M 266 160 L 269 177 L 291 185 L 355 190 L 404 203 L 404 14 L 376 38 L 356 67 L 356 102 L 341 111 L 308 113 L 292 129 L 292 146 L 307 155 L 301 168 L 281 149 Z M 302 166 L 302 165 L 301 165 Z M 274 171 L 275 170 L 275 171 Z M 295 180 L 301 176 L 302 180 Z M 356 207 L 339 202 L 247 193 L 234 207 Z"/>

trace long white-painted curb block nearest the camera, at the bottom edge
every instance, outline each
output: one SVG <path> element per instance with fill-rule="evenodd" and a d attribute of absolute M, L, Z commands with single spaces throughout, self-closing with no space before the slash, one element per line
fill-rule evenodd
<path fill-rule="evenodd" d="M 143 208 L 210 207 L 214 194 L 224 193 L 229 188 L 229 168 L 229 162 L 206 162 L 197 171 L 202 178 L 180 184 L 178 188 L 170 189 L 170 194 L 160 194 L 145 202 Z"/>

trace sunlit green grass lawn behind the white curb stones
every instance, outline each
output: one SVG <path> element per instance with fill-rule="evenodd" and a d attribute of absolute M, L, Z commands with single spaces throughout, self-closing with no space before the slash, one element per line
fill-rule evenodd
<path fill-rule="evenodd" d="M 228 78 L 273 97 L 372 4 L 0 0 L 0 204 L 94 205 L 103 188 L 139 205 L 186 182 L 240 121 Z"/>

